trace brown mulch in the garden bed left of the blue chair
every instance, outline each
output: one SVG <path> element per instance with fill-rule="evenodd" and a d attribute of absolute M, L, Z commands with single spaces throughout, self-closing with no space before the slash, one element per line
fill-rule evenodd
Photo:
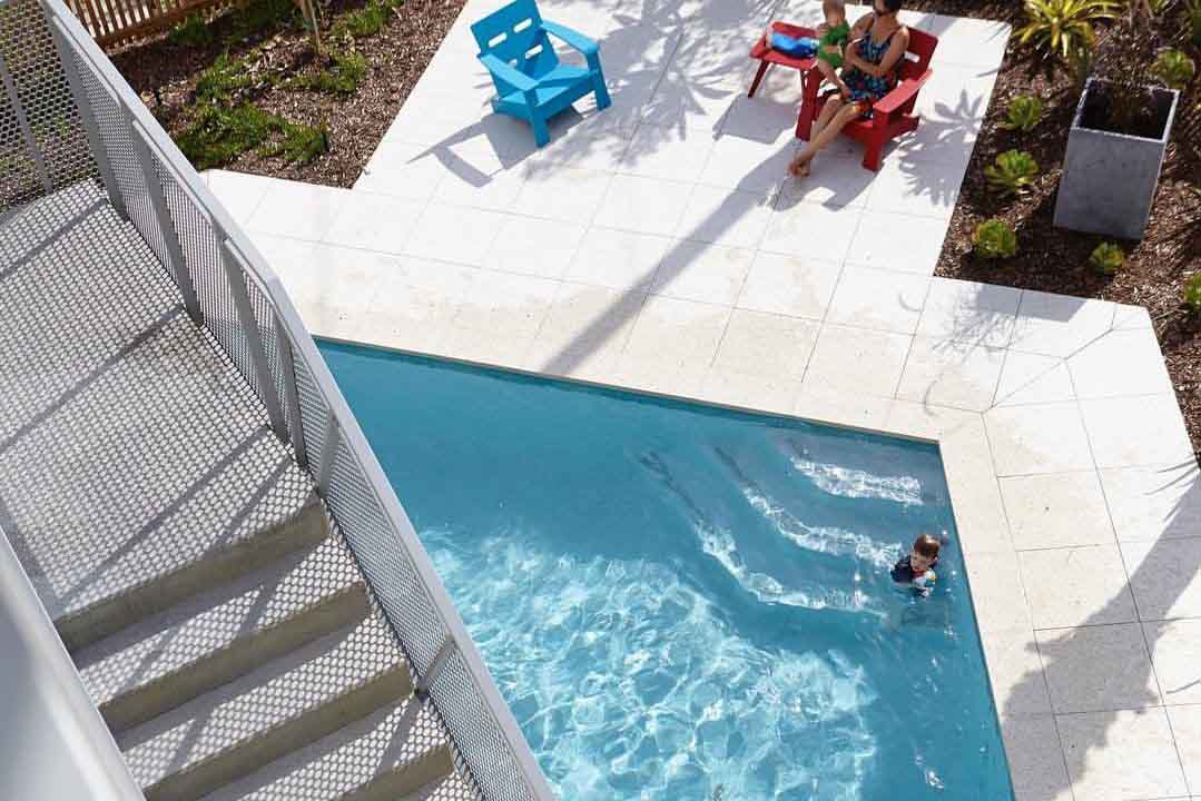
<path fill-rule="evenodd" d="M 368 73 L 349 97 L 270 85 L 252 92 L 255 104 L 263 110 L 291 122 L 327 125 L 328 153 L 307 165 L 298 165 L 251 151 L 223 168 L 327 186 L 352 186 L 465 1 L 406 0 L 382 30 L 355 40 L 353 49 L 366 59 Z M 364 0 L 333 0 L 322 5 L 328 50 L 333 44 L 328 38 L 331 20 L 362 7 Z M 219 17 L 210 26 L 215 36 L 208 46 L 175 46 L 161 36 L 112 56 L 120 73 L 173 135 L 187 122 L 197 74 L 223 52 L 233 59 L 258 50 L 264 72 L 300 74 L 319 67 L 309 37 L 299 25 L 276 26 L 249 41 L 229 44 L 228 16 Z"/>

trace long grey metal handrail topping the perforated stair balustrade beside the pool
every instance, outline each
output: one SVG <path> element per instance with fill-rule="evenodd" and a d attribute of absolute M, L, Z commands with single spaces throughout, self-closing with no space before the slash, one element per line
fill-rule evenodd
<path fill-rule="evenodd" d="M 446 632 L 446 639 L 442 647 L 438 648 L 438 653 L 456 651 L 461 656 L 464 666 L 480 695 L 478 700 L 482 704 L 479 706 L 486 711 L 486 715 L 491 718 L 492 724 L 503 739 L 504 747 L 515 760 L 520 778 L 528 793 L 527 797 L 533 801 L 554 801 L 555 795 L 542 770 L 538 767 L 525 736 L 521 734 L 508 705 L 501 698 L 500 691 L 496 688 L 483 658 L 476 648 L 471 635 L 467 633 L 446 587 L 434 569 L 429 555 L 422 546 L 408 515 L 396 498 L 392 484 L 388 482 L 375 453 L 368 444 L 366 437 L 363 435 L 354 414 L 337 389 L 333 375 L 317 351 L 316 343 L 301 322 L 291 298 L 283 289 L 279 276 L 271 270 L 246 234 L 234 223 L 221 203 L 210 192 L 209 187 L 199 180 L 195 169 L 180 153 L 175 143 L 162 130 L 141 98 L 130 89 L 120 73 L 116 72 L 116 68 L 104 56 L 62 0 L 38 0 L 38 2 L 41 2 L 50 25 L 65 38 L 74 53 L 86 62 L 92 74 L 103 85 L 103 89 L 115 100 L 123 112 L 129 115 L 127 119 L 132 122 L 129 126 L 130 135 L 143 137 L 145 143 L 150 145 L 160 163 L 178 181 L 178 186 L 186 196 L 190 196 L 195 201 L 196 210 L 211 223 L 217 241 L 228 245 L 237 261 L 240 262 L 238 268 L 262 291 L 275 319 L 279 322 L 280 331 L 286 337 L 287 345 L 295 351 L 295 361 L 303 364 L 309 377 L 316 385 L 322 405 L 329 416 L 329 423 L 325 426 L 327 431 L 337 431 L 351 458 L 355 461 L 355 465 L 365 478 L 365 489 L 387 516 L 388 524 L 398 540 L 395 543 L 396 546 L 412 562 L 422 590 L 428 594 L 430 603 L 436 610 Z M 103 157 L 103 154 L 97 154 L 97 157 Z M 264 391 L 271 389 L 271 387 L 265 387 Z M 317 472 L 319 473 L 327 467 L 319 466 Z M 310 471 L 312 471 L 311 465 Z M 333 510 L 330 513 L 333 514 Z M 334 515 L 334 519 L 336 521 L 337 515 Z M 404 646 L 399 627 L 394 624 L 393 628 Z M 440 664 L 429 665 L 426 673 L 435 674 Z M 417 665 L 413 665 L 413 670 L 418 673 L 416 676 L 418 686 L 428 692 L 429 682 L 434 681 L 434 677 L 420 675 Z M 438 709 L 444 717 L 446 710 L 440 707 L 437 694 L 435 693 L 432 698 L 435 709 Z M 473 760 L 470 749 L 461 742 L 455 742 L 455 747 L 468 766 L 472 766 Z M 483 754 L 480 754 L 480 758 L 485 759 Z M 490 760 L 491 755 L 489 754 L 486 759 Z"/>

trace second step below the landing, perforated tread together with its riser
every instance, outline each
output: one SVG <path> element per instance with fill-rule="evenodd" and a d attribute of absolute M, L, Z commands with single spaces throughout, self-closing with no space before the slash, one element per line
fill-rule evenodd
<path fill-rule="evenodd" d="M 392 632 L 359 623 L 116 733 L 148 801 L 192 801 L 410 695 Z"/>

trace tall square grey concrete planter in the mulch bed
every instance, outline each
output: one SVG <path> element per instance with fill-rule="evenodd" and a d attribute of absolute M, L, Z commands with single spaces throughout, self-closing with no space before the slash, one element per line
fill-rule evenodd
<path fill-rule="evenodd" d="M 1101 85 L 1089 78 L 1076 107 L 1068 132 L 1068 155 L 1054 205 L 1054 225 L 1121 239 L 1142 239 L 1179 92 L 1151 90 L 1157 120 L 1163 120 L 1159 138 L 1151 139 L 1085 126 L 1089 92 Z"/>

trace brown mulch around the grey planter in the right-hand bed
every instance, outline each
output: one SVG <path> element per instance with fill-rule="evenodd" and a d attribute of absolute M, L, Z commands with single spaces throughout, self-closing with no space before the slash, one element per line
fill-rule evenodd
<path fill-rule="evenodd" d="M 1187 40 L 1185 23 L 1175 2 L 1153 26 L 1159 47 L 1184 49 L 1201 65 L 1201 49 Z M 907 8 L 960 17 L 1002 19 L 1023 24 L 1022 4 L 1004 0 L 909 0 Z M 1106 54 L 1121 44 L 1125 23 L 1107 28 L 1099 43 L 1099 68 Z M 1149 67 L 1159 47 L 1148 48 Z M 1148 83 L 1151 79 L 1148 78 Z M 1088 256 L 1104 239 L 1053 228 L 1056 190 L 1068 145 L 1068 128 L 1080 98 L 1066 76 L 1047 78 L 1030 61 L 1016 37 L 1010 40 L 997 79 L 992 103 L 968 165 L 958 204 L 951 217 L 937 275 L 1057 292 L 1146 306 L 1151 312 L 1176 396 L 1195 452 L 1201 452 L 1201 316 L 1182 304 L 1187 279 L 1201 270 L 1201 91 L 1197 83 L 1181 97 L 1171 143 L 1164 161 L 1151 223 L 1142 241 L 1118 243 L 1127 265 L 1117 275 L 1095 273 Z M 1015 95 L 1038 95 L 1044 101 L 1042 121 L 1029 135 L 999 126 Z M 1004 199 L 991 191 L 984 168 L 998 154 L 1029 151 L 1041 175 L 1028 196 Z M 1113 191 L 1122 191 L 1116 186 Z M 972 232 L 984 220 L 1002 217 L 1017 231 L 1018 252 L 1011 259 L 986 262 L 972 255 Z"/>

